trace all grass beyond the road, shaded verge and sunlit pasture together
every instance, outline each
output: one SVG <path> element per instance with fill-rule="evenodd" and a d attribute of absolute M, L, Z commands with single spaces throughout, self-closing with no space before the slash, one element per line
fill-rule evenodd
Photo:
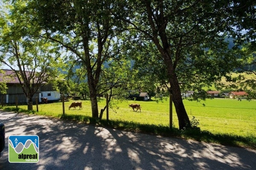
<path fill-rule="evenodd" d="M 169 100 L 163 102 L 136 101 L 141 105 L 142 112 L 134 112 L 128 105 L 134 101 L 118 103 L 109 109 L 109 121 L 106 121 L 106 111 L 103 119 L 92 119 L 90 100 L 83 100 L 83 108 L 68 109 L 74 101 L 64 102 L 65 114 L 62 111 L 62 102 L 33 106 L 33 112 L 39 115 L 52 116 L 59 119 L 73 119 L 79 122 L 93 123 L 121 130 L 130 130 L 143 133 L 161 134 L 163 136 L 180 136 L 198 141 L 217 142 L 233 146 L 255 147 L 256 143 L 256 100 L 238 101 L 235 99 L 208 99 L 202 103 L 184 100 L 189 119 L 194 116 L 199 122 L 200 131 L 178 130 L 177 115 L 173 106 L 173 127 L 169 128 Z M 105 106 L 105 99 L 100 99 L 100 109 Z M 4 109 L 8 109 L 4 107 Z M 16 111 L 16 107 L 9 107 Z M 26 112 L 27 106 L 19 106 L 19 112 Z"/>

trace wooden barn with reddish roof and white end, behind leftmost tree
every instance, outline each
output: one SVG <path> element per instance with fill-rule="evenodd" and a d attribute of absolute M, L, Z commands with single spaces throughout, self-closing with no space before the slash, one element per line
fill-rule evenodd
<path fill-rule="evenodd" d="M 0 73 L 0 82 L 4 82 L 7 85 L 7 94 L 0 94 L 3 96 L 4 103 L 15 103 L 17 98 L 18 103 L 26 103 L 26 96 L 20 86 L 19 80 L 12 70 L 2 70 Z M 32 100 L 35 102 L 35 98 L 38 97 L 38 102 L 42 102 L 42 98 L 47 98 L 48 101 L 55 101 L 60 99 L 60 92 L 54 91 L 52 85 L 42 84 L 38 88 L 38 91 L 33 96 Z"/>

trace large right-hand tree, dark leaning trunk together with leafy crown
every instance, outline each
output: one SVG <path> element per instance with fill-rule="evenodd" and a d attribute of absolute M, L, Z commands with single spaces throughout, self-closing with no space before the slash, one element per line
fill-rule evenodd
<path fill-rule="evenodd" d="M 224 40 L 236 32 L 232 27 L 236 4 L 226 0 L 127 0 L 122 4 L 127 4 L 122 8 L 128 15 L 123 20 L 137 31 L 142 48 L 144 41 L 154 43 L 166 65 L 179 128 L 191 127 L 181 91 L 190 88 L 205 99 L 202 87 L 232 70 L 236 56 Z"/>

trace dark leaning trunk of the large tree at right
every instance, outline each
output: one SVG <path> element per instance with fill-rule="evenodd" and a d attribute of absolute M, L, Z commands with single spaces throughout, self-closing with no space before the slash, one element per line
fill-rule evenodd
<path fill-rule="evenodd" d="M 186 113 L 186 109 L 183 105 L 180 86 L 178 82 L 177 75 L 175 74 L 175 67 L 177 62 L 180 58 L 180 53 L 177 52 L 176 54 L 174 51 L 170 50 L 170 40 L 166 35 L 166 21 L 167 18 L 164 16 L 164 5 L 163 1 L 160 0 L 159 2 L 159 11 L 155 11 L 151 6 L 151 1 L 144 1 L 145 7 L 148 13 L 148 22 L 152 29 L 152 37 L 154 44 L 157 46 L 160 54 L 163 56 L 164 63 L 167 66 L 167 72 L 169 76 L 169 83 L 171 85 L 171 93 L 173 98 L 173 103 L 175 105 L 175 110 L 177 113 L 178 121 L 179 121 L 179 128 L 183 129 L 184 127 L 191 127 L 189 117 Z M 159 39 L 160 37 L 160 39 Z M 176 48 L 177 50 L 177 48 Z M 176 57 L 176 58 L 175 58 Z M 172 58 L 175 58 L 174 61 Z"/>

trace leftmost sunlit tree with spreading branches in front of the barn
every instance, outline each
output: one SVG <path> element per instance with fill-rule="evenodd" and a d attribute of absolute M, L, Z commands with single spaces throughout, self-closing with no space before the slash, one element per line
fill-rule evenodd
<path fill-rule="evenodd" d="M 1 11 L 0 62 L 15 73 L 27 98 L 28 110 L 32 110 L 33 95 L 47 82 L 49 75 L 55 75 L 58 49 L 47 40 L 34 37 L 40 34 L 38 27 L 29 24 L 25 15 L 17 13 L 17 8 L 23 5 L 17 1 Z"/>

